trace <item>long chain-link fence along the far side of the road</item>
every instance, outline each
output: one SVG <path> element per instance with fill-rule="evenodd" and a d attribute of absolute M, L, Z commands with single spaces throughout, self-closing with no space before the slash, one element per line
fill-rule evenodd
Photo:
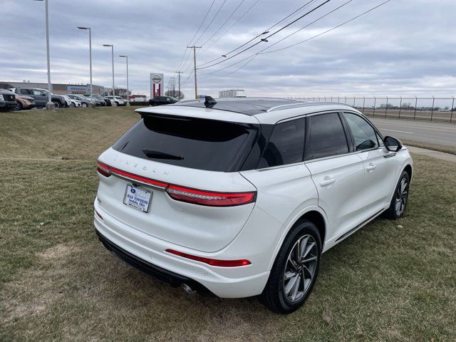
<path fill-rule="evenodd" d="M 324 96 L 296 99 L 346 103 L 374 118 L 403 118 L 447 123 L 456 121 L 454 96 L 451 98 Z M 453 118 L 453 114 L 455 114 L 455 118 Z"/>

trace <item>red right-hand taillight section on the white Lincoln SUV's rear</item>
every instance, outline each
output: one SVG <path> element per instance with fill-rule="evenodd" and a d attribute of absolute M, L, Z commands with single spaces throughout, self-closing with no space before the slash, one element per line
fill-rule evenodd
<path fill-rule="evenodd" d="M 177 201 L 193 204 L 209 205 L 212 207 L 229 207 L 252 203 L 256 192 L 209 192 L 188 187 L 170 185 L 166 189 L 168 195 Z"/>

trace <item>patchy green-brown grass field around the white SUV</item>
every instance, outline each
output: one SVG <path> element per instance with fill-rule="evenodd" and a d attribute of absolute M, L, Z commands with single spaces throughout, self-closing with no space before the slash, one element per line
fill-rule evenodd
<path fill-rule="evenodd" d="M 189 296 L 98 242 L 95 160 L 137 119 L 1 113 L 0 341 L 455 341 L 455 164 L 414 156 L 405 217 L 323 254 L 309 300 L 281 316 L 255 298 Z"/>

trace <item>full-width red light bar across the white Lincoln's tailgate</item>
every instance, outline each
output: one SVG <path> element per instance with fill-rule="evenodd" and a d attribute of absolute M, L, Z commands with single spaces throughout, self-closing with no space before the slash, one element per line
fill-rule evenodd
<path fill-rule="evenodd" d="M 119 170 L 115 167 L 98 162 L 97 171 L 105 176 L 118 175 L 128 180 L 137 180 L 146 185 L 160 187 L 165 190 L 172 198 L 180 202 L 192 204 L 207 205 L 209 207 L 232 207 L 255 202 L 257 192 L 212 192 L 206 190 L 197 190 L 190 187 L 180 187 L 171 185 L 158 180 L 152 180 L 147 177 L 135 175 L 134 173 Z"/>

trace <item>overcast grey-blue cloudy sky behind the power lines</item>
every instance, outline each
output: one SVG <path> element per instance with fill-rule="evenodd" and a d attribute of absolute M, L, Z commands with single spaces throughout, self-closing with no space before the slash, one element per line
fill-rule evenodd
<path fill-rule="evenodd" d="M 241 46 L 309 2 L 215 0 L 199 33 L 190 41 L 212 0 L 48 1 L 53 83 L 89 82 L 88 32 L 76 26 L 91 26 L 94 84 L 111 85 L 110 48 L 102 44 L 112 43 L 116 86 L 126 86 L 125 59 L 118 57 L 125 54 L 129 56 L 130 88 L 134 93 L 149 94 L 151 72 L 165 73 L 166 84 L 167 78 L 177 76 L 175 71 L 180 68 L 185 71 L 182 90 L 186 98 L 194 94 L 192 76 L 189 79 L 192 58 L 187 58 L 187 54 L 182 63 L 187 43 L 202 45 L 197 65 L 210 66 L 225 58 L 207 62 Z M 455 0 L 391 0 L 310 41 L 253 55 L 346 1 L 331 0 L 268 38 L 268 42 L 211 68 L 200 69 L 199 93 L 217 96 L 219 90 L 241 88 L 247 95 L 275 96 L 456 94 Z M 383 1 L 353 0 L 264 52 L 316 36 Z M 322 3 L 323 0 L 312 1 L 270 33 Z M 46 82 L 44 9 L 41 1 L 1 0 L 0 81 Z M 252 43 L 257 41 L 259 38 Z M 239 51 L 242 49 L 227 58 Z M 252 55 L 252 61 L 237 63 Z M 237 64 L 230 66 L 233 63 Z M 238 70 L 241 66 L 244 67 Z"/>

